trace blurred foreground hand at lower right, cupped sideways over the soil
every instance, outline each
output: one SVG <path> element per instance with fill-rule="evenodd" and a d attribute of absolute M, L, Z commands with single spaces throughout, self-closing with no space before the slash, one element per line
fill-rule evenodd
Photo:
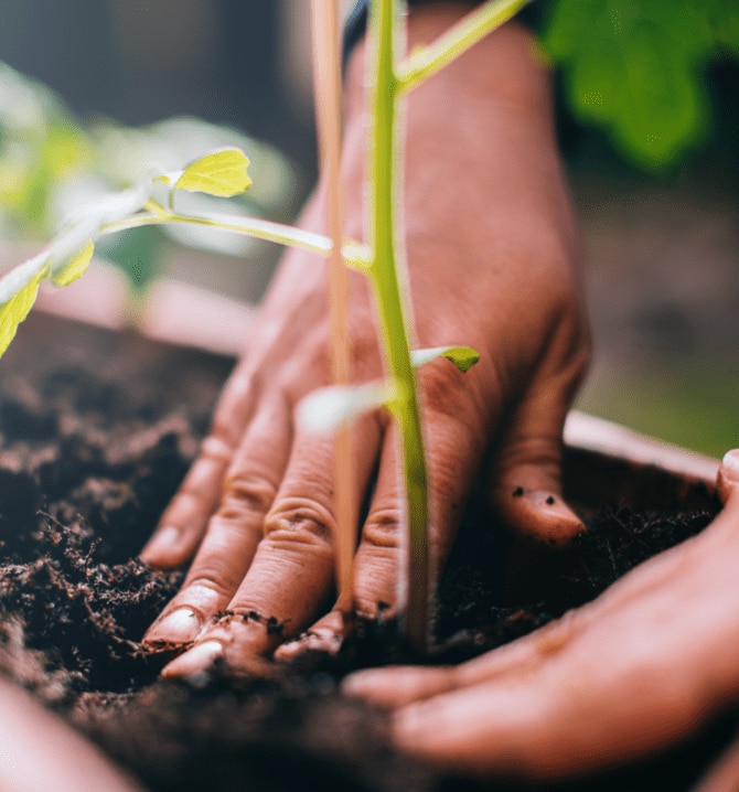
<path fill-rule="evenodd" d="M 345 691 L 396 708 L 400 748 L 464 773 L 553 781 L 684 737 L 739 700 L 739 451 L 719 494 L 700 535 L 559 621 L 457 667 L 360 672 Z M 706 792 L 739 789 L 738 759 Z"/>

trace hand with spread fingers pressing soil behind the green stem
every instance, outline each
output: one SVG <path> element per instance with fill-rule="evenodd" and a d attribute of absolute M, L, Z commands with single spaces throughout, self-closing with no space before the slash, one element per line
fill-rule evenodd
<path fill-rule="evenodd" d="M 430 41 L 463 10 L 414 11 L 410 45 Z M 354 238 L 363 222 L 364 60 L 360 46 L 346 78 L 345 231 Z M 405 232 L 418 344 L 482 353 L 465 375 L 443 360 L 418 375 L 437 568 L 492 437 L 493 491 L 507 521 L 549 541 L 581 529 L 561 501 L 559 467 L 588 333 L 550 115 L 548 76 L 514 24 L 409 97 Z M 319 189 L 306 225 L 323 229 L 323 203 Z M 146 635 L 152 645 L 195 642 L 164 675 L 197 673 L 216 659 L 235 673 L 255 671 L 260 655 L 326 610 L 333 442 L 292 421 L 296 403 L 329 379 L 325 291 L 322 261 L 286 256 L 212 434 L 142 553 L 164 568 L 195 555 L 182 590 Z M 353 275 L 351 291 L 353 375 L 363 382 L 382 365 L 362 276 Z M 356 609 L 374 617 L 396 606 L 403 544 L 388 417 L 357 421 L 353 443 L 357 504 L 377 470 L 355 560 Z M 335 644 L 340 621 L 330 611 L 307 641 Z"/>

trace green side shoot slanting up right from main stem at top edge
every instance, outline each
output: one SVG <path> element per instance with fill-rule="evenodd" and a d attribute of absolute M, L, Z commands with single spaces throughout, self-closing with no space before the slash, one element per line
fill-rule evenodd
<path fill-rule="evenodd" d="M 529 2 L 531 0 L 490 0 L 471 11 L 433 43 L 421 47 L 400 64 L 400 93 L 411 90 L 435 75 Z"/>

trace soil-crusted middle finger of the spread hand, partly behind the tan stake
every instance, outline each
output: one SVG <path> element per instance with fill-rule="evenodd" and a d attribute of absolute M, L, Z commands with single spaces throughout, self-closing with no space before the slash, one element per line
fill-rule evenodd
<path fill-rule="evenodd" d="M 379 447 L 379 426 L 372 416 L 353 428 L 355 492 L 364 492 Z M 285 479 L 265 520 L 265 536 L 254 563 L 228 604 L 227 617 L 206 629 L 196 645 L 162 672 L 190 676 L 218 656 L 234 674 L 250 673 L 254 659 L 298 634 L 331 592 L 334 571 L 333 438 L 299 432 Z M 354 524 L 358 520 L 355 500 Z"/>

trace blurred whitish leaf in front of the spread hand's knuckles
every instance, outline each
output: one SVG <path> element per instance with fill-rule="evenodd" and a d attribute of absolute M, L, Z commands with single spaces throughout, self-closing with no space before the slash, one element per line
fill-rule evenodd
<path fill-rule="evenodd" d="M 387 382 L 320 388 L 298 404 L 298 426 L 317 435 L 330 435 L 364 413 L 386 406 L 396 397 L 397 388 Z"/>

